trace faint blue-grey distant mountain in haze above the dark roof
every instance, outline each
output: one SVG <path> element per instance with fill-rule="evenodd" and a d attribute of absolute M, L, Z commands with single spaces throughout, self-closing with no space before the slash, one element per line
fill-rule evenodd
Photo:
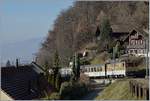
<path fill-rule="evenodd" d="M 44 38 L 33 38 L 23 40 L 15 43 L 5 43 L 1 47 L 2 63 L 5 64 L 7 60 L 15 62 L 16 58 L 20 59 L 20 62 L 31 62 L 35 53 L 41 46 Z"/>

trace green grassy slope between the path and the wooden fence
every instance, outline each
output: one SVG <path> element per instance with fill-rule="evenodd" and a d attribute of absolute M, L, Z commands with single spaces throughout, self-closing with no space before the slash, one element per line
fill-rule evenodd
<path fill-rule="evenodd" d="M 118 80 L 109 85 L 96 100 L 137 100 L 129 91 L 129 80 Z"/>

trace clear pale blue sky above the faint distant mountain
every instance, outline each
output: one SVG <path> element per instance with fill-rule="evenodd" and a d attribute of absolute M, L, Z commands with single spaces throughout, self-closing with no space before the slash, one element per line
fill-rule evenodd
<path fill-rule="evenodd" d="M 73 0 L 1 0 L 0 41 L 46 36 L 57 15 L 72 4 Z"/>

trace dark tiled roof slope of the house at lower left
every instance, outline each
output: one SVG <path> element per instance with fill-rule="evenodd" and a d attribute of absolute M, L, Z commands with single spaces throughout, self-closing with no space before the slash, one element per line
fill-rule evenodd
<path fill-rule="evenodd" d="M 38 73 L 31 65 L 18 68 L 1 68 L 1 89 L 15 100 L 35 99 L 37 94 L 28 94 L 29 81 L 33 81 Z"/>

